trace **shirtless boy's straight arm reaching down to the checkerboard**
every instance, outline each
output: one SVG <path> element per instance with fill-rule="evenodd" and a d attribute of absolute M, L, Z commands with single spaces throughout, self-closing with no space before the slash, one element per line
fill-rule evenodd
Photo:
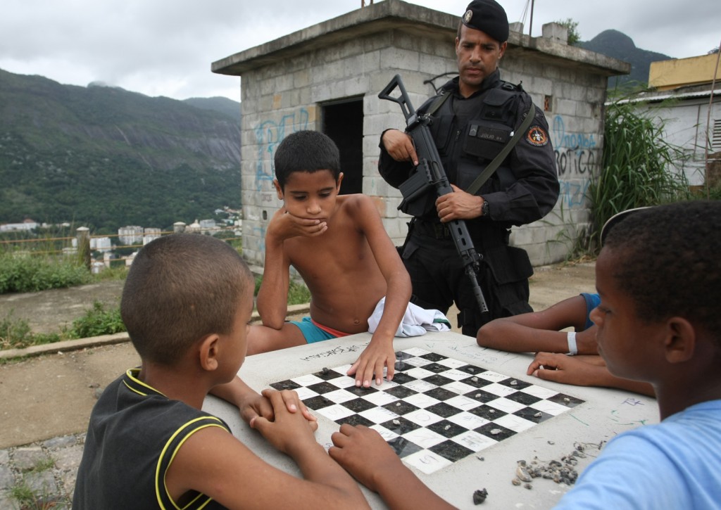
<path fill-rule="evenodd" d="M 387 367 L 388 380 L 393 378 L 396 362 L 393 338 L 410 300 L 411 282 L 373 202 L 363 196 L 352 213 L 355 223 L 366 236 L 376 264 L 386 280 L 386 301 L 381 320 L 376 331 L 373 332 L 371 343 L 348 371 L 349 375 L 355 373 L 356 385 L 362 384 L 367 387 L 373 380 L 373 374 L 376 384 L 381 383 L 383 367 Z"/>

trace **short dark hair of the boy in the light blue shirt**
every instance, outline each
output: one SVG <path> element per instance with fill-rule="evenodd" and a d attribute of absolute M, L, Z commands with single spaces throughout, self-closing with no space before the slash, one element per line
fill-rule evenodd
<path fill-rule="evenodd" d="M 721 343 L 721 201 L 678 202 L 638 210 L 612 228 L 614 279 L 639 318 L 681 316 Z"/>

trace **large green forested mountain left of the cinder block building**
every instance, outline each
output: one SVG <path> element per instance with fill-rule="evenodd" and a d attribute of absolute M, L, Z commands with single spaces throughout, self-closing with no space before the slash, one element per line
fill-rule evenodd
<path fill-rule="evenodd" d="M 0 223 L 102 233 L 240 207 L 240 104 L 0 70 Z"/>

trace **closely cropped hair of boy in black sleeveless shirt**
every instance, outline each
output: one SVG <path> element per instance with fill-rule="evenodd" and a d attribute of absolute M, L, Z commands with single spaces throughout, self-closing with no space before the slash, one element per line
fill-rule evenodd
<path fill-rule="evenodd" d="M 138 251 L 120 315 L 143 359 L 172 366 L 203 336 L 231 333 L 252 285 L 247 264 L 228 243 L 174 233 Z"/>

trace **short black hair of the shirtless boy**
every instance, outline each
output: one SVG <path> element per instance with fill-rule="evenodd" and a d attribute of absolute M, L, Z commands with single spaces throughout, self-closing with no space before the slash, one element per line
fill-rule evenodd
<path fill-rule="evenodd" d="M 286 136 L 275 150 L 275 179 L 285 189 L 288 176 L 294 171 L 313 173 L 329 170 L 338 182 L 340 152 L 328 135 L 319 131 L 296 131 Z"/>

